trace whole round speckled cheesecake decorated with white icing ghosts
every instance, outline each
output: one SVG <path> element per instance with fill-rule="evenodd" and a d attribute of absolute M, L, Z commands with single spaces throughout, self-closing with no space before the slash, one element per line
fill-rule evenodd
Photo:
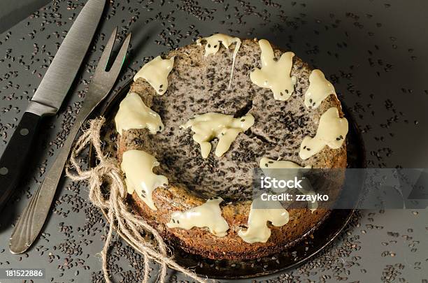
<path fill-rule="evenodd" d="M 348 124 L 322 72 L 267 41 L 230 36 L 150 63 L 117 113 L 117 156 L 135 212 L 165 240 L 210 259 L 255 259 L 293 245 L 329 215 L 289 209 L 278 221 L 252 210 L 254 169 L 269 167 L 261 160 L 346 167 Z M 256 213 L 267 235 L 254 226 L 249 237 Z"/>

